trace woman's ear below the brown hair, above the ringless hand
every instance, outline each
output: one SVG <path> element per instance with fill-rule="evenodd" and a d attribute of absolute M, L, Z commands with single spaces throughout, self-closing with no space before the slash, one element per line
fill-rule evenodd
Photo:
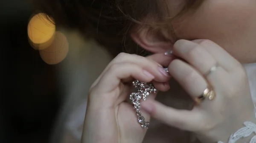
<path fill-rule="evenodd" d="M 172 48 L 172 40 L 162 30 L 152 30 L 148 27 L 142 27 L 139 30 L 133 30 L 131 38 L 145 50 L 151 53 L 164 53 Z"/>

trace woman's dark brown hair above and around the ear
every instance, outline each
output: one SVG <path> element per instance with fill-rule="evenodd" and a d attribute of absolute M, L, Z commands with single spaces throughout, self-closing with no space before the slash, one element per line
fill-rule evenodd
<path fill-rule="evenodd" d="M 145 56 L 143 49 L 133 42 L 129 33 L 136 26 L 157 28 L 167 25 L 167 0 L 33 0 L 38 8 L 48 14 L 56 25 L 78 28 L 87 38 L 116 56 L 120 52 Z M 198 6 L 203 0 L 186 0 L 178 15 Z M 150 23 L 145 18 L 151 17 Z"/>

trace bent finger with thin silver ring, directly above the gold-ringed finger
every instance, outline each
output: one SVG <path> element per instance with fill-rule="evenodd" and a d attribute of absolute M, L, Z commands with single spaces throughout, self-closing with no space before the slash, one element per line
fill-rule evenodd
<path fill-rule="evenodd" d="M 207 50 L 192 41 L 178 40 L 174 45 L 173 52 L 185 59 L 202 75 L 207 73 L 217 63 Z"/>

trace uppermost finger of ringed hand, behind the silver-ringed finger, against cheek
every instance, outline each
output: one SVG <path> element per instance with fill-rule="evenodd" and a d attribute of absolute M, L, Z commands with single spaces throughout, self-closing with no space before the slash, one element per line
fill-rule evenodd
<path fill-rule="evenodd" d="M 236 67 L 241 66 L 241 64 L 235 58 L 233 58 L 233 56 L 227 53 L 224 48 L 221 48 L 219 45 L 210 40 L 198 39 L 193 40 L 192 42 L 201 45 L 201 47 L 207 50 L 208 53 L 211 54 L 212 57 L 218 62 L 218 64 L 227 71 L 232 71 Z"/>

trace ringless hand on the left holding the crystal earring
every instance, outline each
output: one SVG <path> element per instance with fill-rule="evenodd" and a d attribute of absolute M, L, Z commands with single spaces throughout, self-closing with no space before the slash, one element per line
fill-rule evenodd
<path fill-rule="evenodd" d="M 108 64 L 93 83 L 88 96 L 82 143 L 141 143 L 146 129 L 137 122 L 132 104 L 125 102 L 134 79 L 154 81 L 161 90 L 168 90 L 169 74 L 160 64 L 148 58 L 121 53 Z M 157 58 L 158 62 L 161 58 Z M 163 58 L 162 58 L 163 59 Z M 172 58 L 169 58 L 169 62 Z M 163 63 L 168 60 L 163 61 Z M 150 95 L 149 98 L 154 98 Z M 149 115 L 143 113 L 146 121 Z"/>

